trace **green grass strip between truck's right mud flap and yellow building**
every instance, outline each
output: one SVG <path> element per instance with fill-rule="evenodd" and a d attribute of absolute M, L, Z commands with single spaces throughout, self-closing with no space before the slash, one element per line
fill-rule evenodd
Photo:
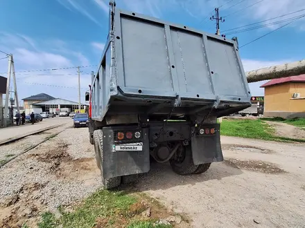
<path fill-rule="evenodd" d="M 305 140 L 275 135 L 275 129 L 262 120 L 223 120 L 220 124 L 222 135 L 246 137 L 278 142 L 305 142 Z"/>

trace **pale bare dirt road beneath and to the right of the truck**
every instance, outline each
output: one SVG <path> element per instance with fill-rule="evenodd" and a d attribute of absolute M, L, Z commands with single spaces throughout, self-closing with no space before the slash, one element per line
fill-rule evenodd
<path fill-rule="evenodd" d="M 153 164 L 137 191 L 186 213 L 193 227 L 304 227 L 305 144 L 222 137 L 222 145 L 226 161 L 207 173 L 182 177 Z"/>

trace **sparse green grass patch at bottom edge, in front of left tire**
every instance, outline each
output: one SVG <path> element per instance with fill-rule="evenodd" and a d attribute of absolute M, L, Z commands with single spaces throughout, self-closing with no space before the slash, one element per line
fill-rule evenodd
<path fill-rule="evenodd" d="M 143 217 L 141 213 L 154 208 L 149 202 L 139 195 L 130 195 L 124 191 L 99 190 L 84 200 L 80 205 L 67 211 L 59 208 L 60 218 L 55 218 L 53 213 L 42 214 L 39 228 L 101 228 L 101 227 L 130 227 L 130 228 L 170 228 L 172 225 L 154 225 L 159 218 L 155 216 Z"/>

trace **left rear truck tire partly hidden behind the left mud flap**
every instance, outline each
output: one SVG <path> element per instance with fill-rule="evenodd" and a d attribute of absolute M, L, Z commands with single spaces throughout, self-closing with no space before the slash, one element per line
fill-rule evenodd
<path fill-rule="evenodd" d="M 101 170 L 103 189 L 113 189 L 121 184 L 121 177 L 103 178 L 103 131 L 98 129 L 94 133 L 94 151 L 96 153 L 96 164 Z"/>

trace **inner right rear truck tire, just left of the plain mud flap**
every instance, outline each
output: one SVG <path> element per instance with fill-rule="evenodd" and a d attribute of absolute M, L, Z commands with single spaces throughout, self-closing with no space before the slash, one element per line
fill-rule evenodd
<path fill-rule="evenodd" d="M 177 161 L 172 159 L 170 160 L 170 164 L 175 173 L 180 175 L 188 175 L 195 172 L 196 169 L 198 169 L 198 165 L 195 165 L 193 162 L 191 145 L 182 146 L 182 150 L 183 151 L 180 152 L 182 153 L 183 160 Z"/>

